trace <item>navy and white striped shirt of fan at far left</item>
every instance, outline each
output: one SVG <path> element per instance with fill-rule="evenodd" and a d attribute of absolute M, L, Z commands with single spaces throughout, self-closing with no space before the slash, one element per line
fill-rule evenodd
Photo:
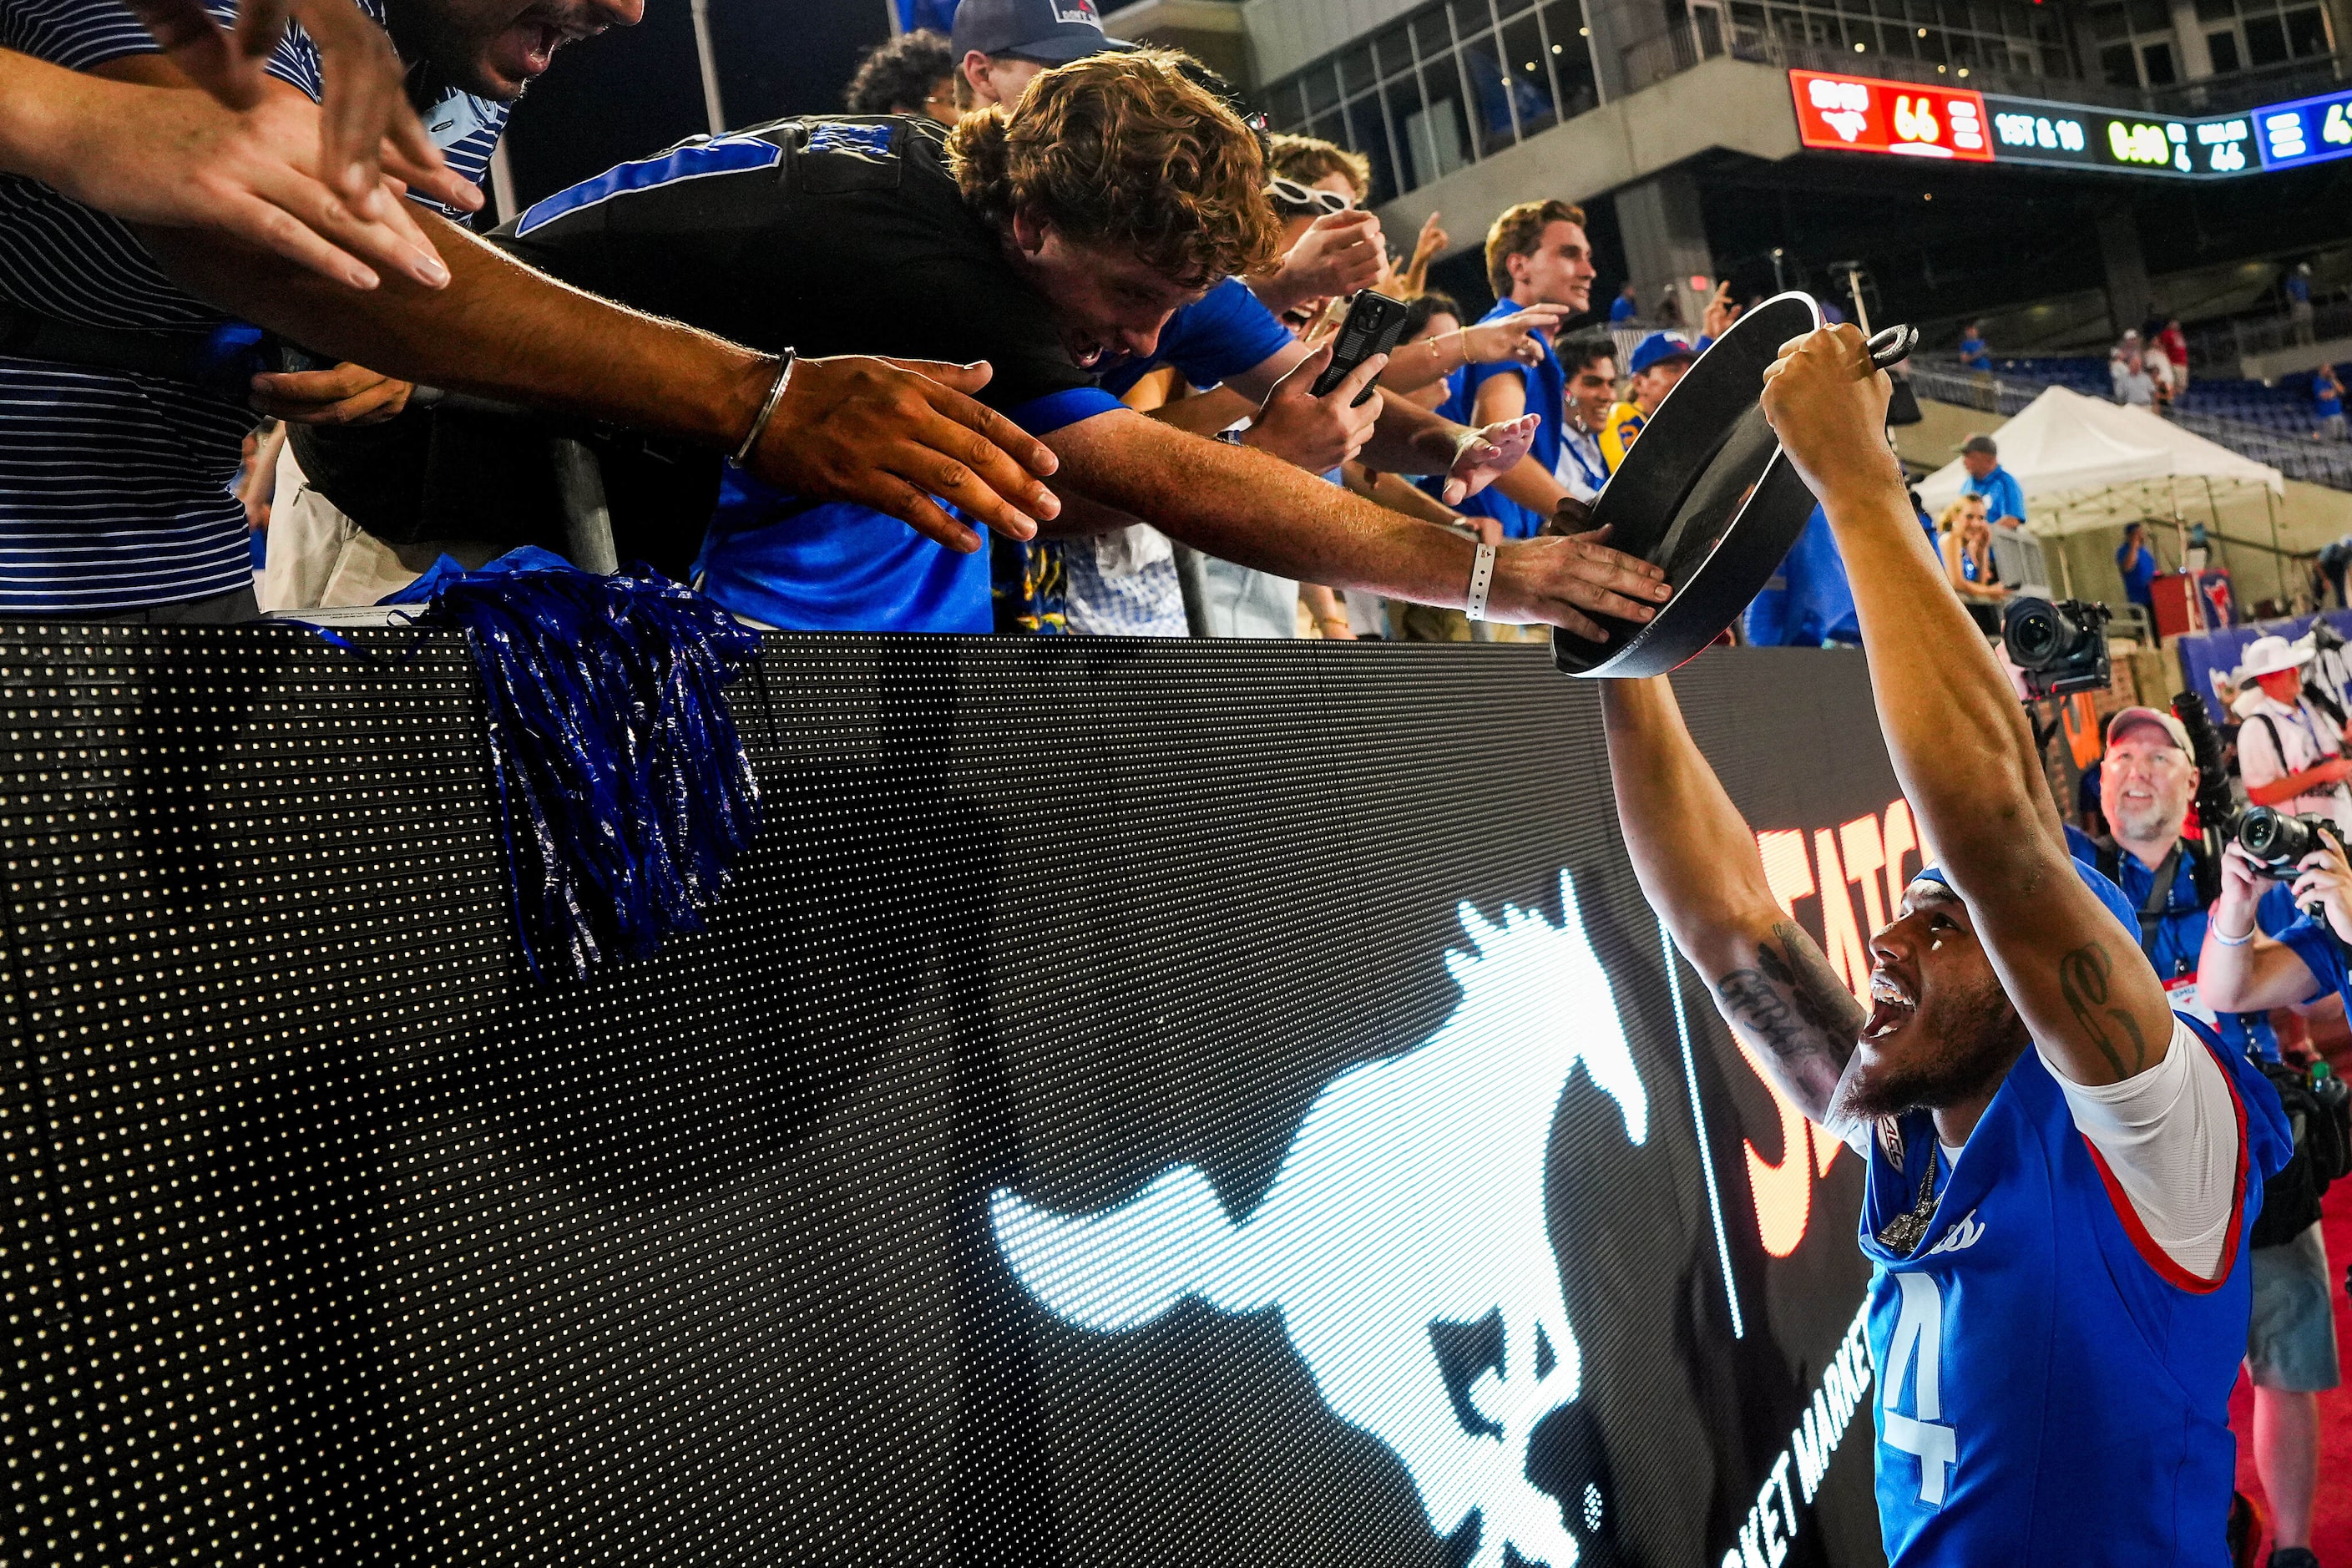
<path fill-rule="evenodd" d="M 383 21 L 383 0 L 360 0 Z M 233 5 L 214 5 L 233 19 Z M 118 0 L 0 0 L 0 47 L 92 71 L 155 40 Z M 268 73 L 322 94 L 318 47 L 289 26 Z M 480 181 L 506 106 L 466 94 L 428 113 Z M 0 176 L 0 301 L 59 322 L 202 339 L 226 317 L 169 282 L 132 233 L 49 186 Z M 252 583 L 228 491 L 256 414 L 172 381 L 0 355 L 0 614 L 103 616 Z"/>

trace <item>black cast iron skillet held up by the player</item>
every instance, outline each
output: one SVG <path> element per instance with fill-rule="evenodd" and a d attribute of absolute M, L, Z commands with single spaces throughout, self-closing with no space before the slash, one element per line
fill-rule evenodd
<path fill-rule="evenodd" d="M 1764 590 L 1813 515 L 1813 491 L 1764 423 L 1764 367 L 1820 327 L 1811 294 L 1776 294 L 1731 322 L 1658 402 L 1625 465 L 1609 475 L 1592 527 L 1609 548 L 1665 569 L 1675 597 L 1649 623 L 1592 616 L 1609 642 L 1552 628 L 1569 675 L 1665 675 L 1715 642 Z M 1870 339 L 1879 369 L 1919 341 L 1910 327 Z"/>

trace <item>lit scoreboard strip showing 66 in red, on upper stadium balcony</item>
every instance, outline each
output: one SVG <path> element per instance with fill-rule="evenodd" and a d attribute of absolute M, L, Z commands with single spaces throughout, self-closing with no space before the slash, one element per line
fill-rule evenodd
<path fill-rule="evenodd" d="M 1797 139 L 1839 153 L 2171 179 L 2232 179 L 2352 158 L 2352 92 L 2176 118 L 1825 71 L 1788 78 Z"/>

